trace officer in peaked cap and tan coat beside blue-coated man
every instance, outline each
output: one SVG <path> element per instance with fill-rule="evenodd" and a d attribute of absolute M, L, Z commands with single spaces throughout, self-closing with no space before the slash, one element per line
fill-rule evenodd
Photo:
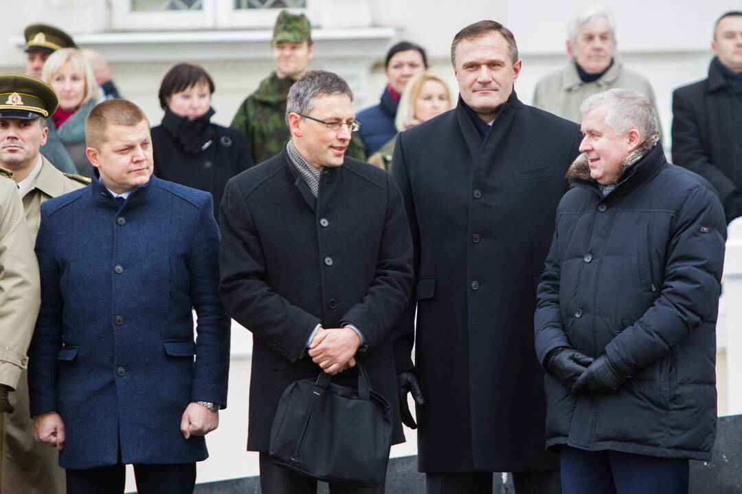
<path fill-rule="evenodd" d="M 65 175 L 39 153 L 47 136 L 45 119 L 56 107 L 56 94 L 44 82 L 15 74 L 0 75 L 0 167 L 10 170 L 16 182 L 28 229 L 27 252 L 32 256 L 42 202 L 90 183 L 89 178 Z M 16 411 L 3 418 L 0 494 L 64 493 L 65 473 L 57 465 L 56 450 L 37 443 L 30 435 L 25 370 L 16 393 L 10 395 L 10 406 Z"/>

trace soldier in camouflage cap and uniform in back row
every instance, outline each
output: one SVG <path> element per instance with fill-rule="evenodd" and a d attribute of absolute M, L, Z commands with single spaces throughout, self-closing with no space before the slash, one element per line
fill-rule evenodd
<path fill-rule="evenodd" d="M 306 73 L 315 53 L 309 19 L 281 10 L 273 28 L 271 52 L 275 72 L 260 81 L 255 93 L 240 104 L 231 125 L 245 134 L 256 164 L 280 153 L 289 141 L 286 96 L 294 81 Z M 346 156 L 366 159 L 358 136 L 353 135 Z"/>

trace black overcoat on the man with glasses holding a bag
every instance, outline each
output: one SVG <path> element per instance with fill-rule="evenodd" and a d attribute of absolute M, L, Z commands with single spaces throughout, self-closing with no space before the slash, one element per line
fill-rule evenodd
<path fill-rule="evenodd" d="M 222 300 L 253 334 L 248 449 L 269 450 L 283 390 L 321 372 L 306 355 L 318 323 L 364 334 L 356 356 L 392 407 L 393 441 L 404 441 L 390 330 L 410 296 L 412 241 L 391 176 L 345 158 L 324 170 L 315 198 L 284 148 L 227 183 L 220 221 Z M 357 376 L 334 379 L 355 387 Z"/>

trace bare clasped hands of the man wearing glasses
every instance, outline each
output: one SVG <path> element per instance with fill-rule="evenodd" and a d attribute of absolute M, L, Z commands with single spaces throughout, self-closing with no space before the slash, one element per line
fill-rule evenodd
<path fill-rule="evenodd" d="M 320 327 L 309 345 L 309 356 L 326 373 L 335 375 L 355 365 L 351 358 L 359 346 L 361 338 L 349 327 Z"/>

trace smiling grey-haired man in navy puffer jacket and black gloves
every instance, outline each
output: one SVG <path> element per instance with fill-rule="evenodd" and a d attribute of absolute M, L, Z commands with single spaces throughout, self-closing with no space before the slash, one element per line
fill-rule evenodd
<path fill-rule="evenodd" d="M 723 209 L 666 161 L 644 96 L 608 90 L 580 110 L 534 318 L 546 447 L 565 494 L 685 494 L 716 433 Z"/>

